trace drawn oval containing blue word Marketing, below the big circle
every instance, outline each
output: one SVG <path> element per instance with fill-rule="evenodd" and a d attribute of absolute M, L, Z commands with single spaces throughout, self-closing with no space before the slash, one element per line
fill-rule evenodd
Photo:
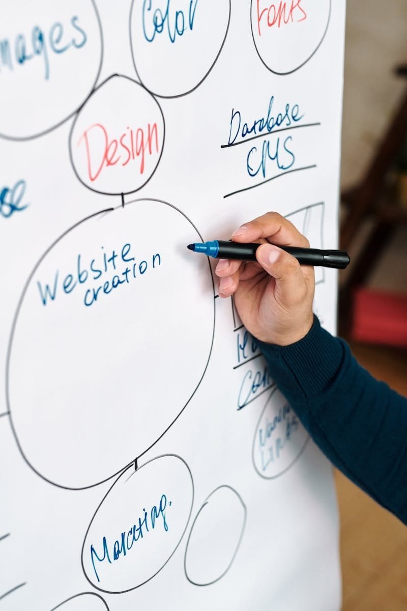
<path fill-rule="evenodd" d="M 88 582 L 112 594 L 148 582 L 181 543 L 192 504 L 192 475 L 180 456 L 157 456 L 137 470 L 130 466 L 87 529 L 82 569 Z"/>

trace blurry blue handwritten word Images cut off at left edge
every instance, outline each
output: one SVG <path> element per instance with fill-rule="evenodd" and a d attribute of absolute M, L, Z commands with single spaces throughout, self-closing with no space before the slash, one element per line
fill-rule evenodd
<path fill-rule="evenodd" d="M 2 38 L 0 40 L 0 72 L 2 68 L 13 71 L 15 67 L 23 66 L 35 57 L 42 57 L 44 62 L 44 78 L 49 79 L 49 50 L 56 55 L 65 53 L 69 49 L 81 49 L 87 41 L 84 29 L 79 26 L 79 17 L 71 18 L 70 28 L 63 26 L 60 21 L 52 24 L 49 32 L 34 26 L 31 35 L 17 34 L 14 40 Z M 13 50 L 12 50 L 13 49 Z"/>

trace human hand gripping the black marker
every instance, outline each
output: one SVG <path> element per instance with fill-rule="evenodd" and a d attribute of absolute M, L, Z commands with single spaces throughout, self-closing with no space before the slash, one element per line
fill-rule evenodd
<path fill-rule="evenodd" d="M 281 214 L 268 212 L 239 227 L 232 240 L 264 245 L 256 251 L 257 263 L 218 261 L 219 296 L 234 295 L 242 323 L 262 342 L 281 346 L 298 342 L 314 320 L 314 268 L 300 266 L 276 245 L 308 248 L 307 238 Z"/>

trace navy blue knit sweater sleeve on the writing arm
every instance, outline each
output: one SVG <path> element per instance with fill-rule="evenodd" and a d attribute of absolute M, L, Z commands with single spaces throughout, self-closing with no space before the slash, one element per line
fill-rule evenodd
<path fill-rule="evenodd" d="M 259 345 L 315 444 L 407 524 L 407 398 L 372 378 L 316 316 L 300 342 Z"/>

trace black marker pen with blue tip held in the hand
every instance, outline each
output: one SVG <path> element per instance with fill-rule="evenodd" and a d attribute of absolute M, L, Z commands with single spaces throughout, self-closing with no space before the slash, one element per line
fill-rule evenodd
<path fill-rule="evenodd" d="M 241 244 L 213 240 L 203 244 L 189 244 L 190 251 L 201 252 L 208 257 L 222 259 L 239 259 L 240 261 L 256 261 L 256 251 L 261 244 Z M 282 251 L 295 257 L 300 265 L 314 265 L 345 269 L 350 262 L 346 251 L 320 251 L 317 248 L 299 248 L 297 246 L 279 246 Z"/>

